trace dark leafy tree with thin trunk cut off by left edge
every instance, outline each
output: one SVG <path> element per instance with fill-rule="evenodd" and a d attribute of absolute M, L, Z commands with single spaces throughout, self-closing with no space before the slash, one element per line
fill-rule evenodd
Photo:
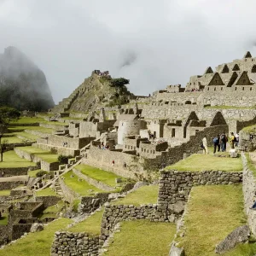
<path fill-rule="evenodd" d="M 20 112 L 15 108 L 1 107 L 0 108 L 0 162 L 3 162 L 3 152 L 6 149 L 7 141 L 2 142 L 3 133 L 7 131 L 11 121 L 18 120 Z"/>

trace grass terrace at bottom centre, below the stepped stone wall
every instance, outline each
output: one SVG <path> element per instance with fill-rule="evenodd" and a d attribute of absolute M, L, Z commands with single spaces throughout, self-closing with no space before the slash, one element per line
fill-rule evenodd
<path fill-rule="evenodd" d="M 114 233 L 106 256 L 166 256 L 176 233 L 176 225 L 148 220 L 126 221 Z M 187 255 L 187 254 L 186 254 Z"/>

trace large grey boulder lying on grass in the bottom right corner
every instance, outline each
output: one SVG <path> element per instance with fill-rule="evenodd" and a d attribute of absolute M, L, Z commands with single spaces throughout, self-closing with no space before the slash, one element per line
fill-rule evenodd
<path fill-rule="evenodd" d="M 216 246 L 215 253 L 223 254 L 236 247 L 237 243 L 248 241 L 249 236 L 250 229 L 247 225 L 238 227 Z"/>

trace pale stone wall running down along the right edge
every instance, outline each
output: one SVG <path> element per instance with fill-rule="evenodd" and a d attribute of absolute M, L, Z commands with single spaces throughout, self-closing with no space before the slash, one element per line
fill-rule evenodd
<path fill-rule="evenodd" d="M 247 166 L 247 159 L 242 153 L 243 176 L 242 176 L 242 191 L 244 199 L 244 208 L 247 213 L 247 222 L 253 235 L 256 236 L 256 211 L 251 210 L 253 202 L 256 201 L 256 178 L 252 170 Z"/>

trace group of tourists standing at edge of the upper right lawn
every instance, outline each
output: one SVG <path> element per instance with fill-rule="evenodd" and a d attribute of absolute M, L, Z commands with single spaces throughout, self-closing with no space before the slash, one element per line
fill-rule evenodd
<path fill-rule="evenodd" d="M 213 143 L 213 154 L 218 152 L 225 152 L 227 149 L 227 143 L 229 142 L 229 137 L 224 133 L 221 135 L 218 134 L 217 137 L 212 138 L 212 143 Z M 234 149 L 235 146 L 237 147 L 239 143 L 239 134 L 236 133 L 234 135 L 234 132 L 230 133 L 230 147 L 231 149 Z M 202 143 L 201 143 L 201 148 L 204 150 L 205 154 L 209 154 L 208 147 L 207 147 L 207 136 L 203 137 Z"/>

